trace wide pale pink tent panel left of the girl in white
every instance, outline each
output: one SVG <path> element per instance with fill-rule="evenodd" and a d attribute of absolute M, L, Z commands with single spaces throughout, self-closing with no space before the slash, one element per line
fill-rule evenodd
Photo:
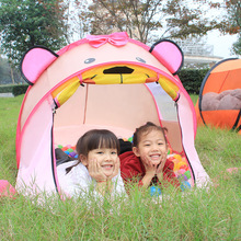
<path fill-rule="evenodd" d="M 21 138 L 16 188 L 20 192 L 56 192 L 51 149 L 53 112 L 45 100 L 27 123 Z M 25 190 L 26 188 L 26 190 Z"/>

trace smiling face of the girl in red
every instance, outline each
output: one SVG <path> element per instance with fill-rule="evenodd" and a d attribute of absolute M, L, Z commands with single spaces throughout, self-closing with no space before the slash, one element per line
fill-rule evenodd
<path fill-rule="evenodd" d="M 167 159 L 168 145 L 161 130 L 151 130 L 140 136 L 139 145 L 133 151 L 142 162 L 149 160 L 159 164 Z"/>

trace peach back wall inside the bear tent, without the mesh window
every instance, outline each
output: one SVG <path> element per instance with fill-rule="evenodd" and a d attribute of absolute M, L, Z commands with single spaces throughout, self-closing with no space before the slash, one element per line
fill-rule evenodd
<path fill-rule="evenodd" d="M 142 95 L 146 96 L 145 104 L 139 100 Z M 135 103 L 133 97 L 136 97 Z M 135 113 L 138 110 L 142 112 L 142 118 L 145 117 L 140 125 L 147 120 L 160 124 L 153 97 L 145 84 L 84 84 L 56 110 L 55 144 L 74 145 L 81 135 L 93 128 L 107 128 L 118 138 L 128 139 L 138 126 L 135 123 L 140 116 Z M 150 113 L 147 114 L 147 111 Z"/>

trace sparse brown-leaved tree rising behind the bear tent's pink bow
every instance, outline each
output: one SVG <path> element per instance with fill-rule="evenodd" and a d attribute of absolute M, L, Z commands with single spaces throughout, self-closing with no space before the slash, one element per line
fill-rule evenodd
<path fill-rule="evenodd" d="M 205 18 L 202 5 L 190 4 L 191 1 L 93 0 L 89 12 L 82 14 L 91 20 L 92 34 L 125 31 L 142 43 L 160 37 L 205 35 L 216 28 L 216 21 Z"/>

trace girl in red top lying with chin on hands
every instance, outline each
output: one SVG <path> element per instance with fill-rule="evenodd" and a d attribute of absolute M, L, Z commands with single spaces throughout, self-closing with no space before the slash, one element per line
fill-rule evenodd
<path fill-rule="evenodd" d="M 165 128 L 150 122 L 136 129 L 133 151 L 119 156 L 125 183 L 138 183 L 146 188 L 152 185 L 162 187 L 167 183 L 180 186 L 173 172 L 174 163 L 167 159 L 165 131 Z"/>

